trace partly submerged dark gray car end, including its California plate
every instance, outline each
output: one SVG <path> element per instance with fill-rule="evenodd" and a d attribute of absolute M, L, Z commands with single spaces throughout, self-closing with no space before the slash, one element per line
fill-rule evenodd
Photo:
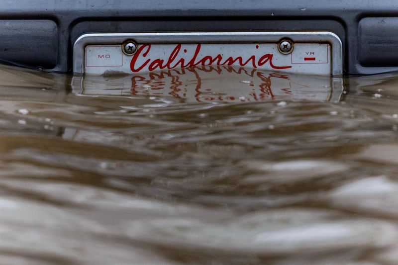
<path fill-rule="evenodd" d="M 376 74 L 398 70 L 395 9 L 359 0 L 9 1 L 0 60 L 90 74 L 198 65 Z"/>

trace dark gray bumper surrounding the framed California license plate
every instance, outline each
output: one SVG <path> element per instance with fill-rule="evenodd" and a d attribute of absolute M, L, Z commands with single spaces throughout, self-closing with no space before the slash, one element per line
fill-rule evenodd
<path fill-rule="evenodd" d="M 0 6 L 0 60 L 72 71 L 84 33 L 331 31 L 349 74 L 398 71 L 398 2 L 380 0 L 18 0 Z"/>

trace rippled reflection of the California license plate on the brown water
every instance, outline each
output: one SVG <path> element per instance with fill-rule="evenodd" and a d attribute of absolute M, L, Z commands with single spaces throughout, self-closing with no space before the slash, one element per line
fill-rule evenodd
<path fill-rule="evenodd" d="M 202 66 L 133 76 L 109 73 L 101 77 L 74 77 L 72 89 L 84 95 L 159 96 L 184 102 L 338 101 L 342 80 L 232 66 Z"/>

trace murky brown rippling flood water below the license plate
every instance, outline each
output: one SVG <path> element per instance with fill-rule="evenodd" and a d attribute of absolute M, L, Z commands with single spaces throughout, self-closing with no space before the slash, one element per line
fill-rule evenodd
<path fill-rule="evenodd" d="M 398 75 L 0 68 L 0 264 L 397 264 Z"/>

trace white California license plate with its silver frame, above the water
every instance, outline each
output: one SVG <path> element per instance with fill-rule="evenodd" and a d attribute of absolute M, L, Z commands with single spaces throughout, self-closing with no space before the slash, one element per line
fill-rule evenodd
<path fill-rule="evenodd" d="M 287 52 L 282 41 L 291 43 Z M 126 53 L 133 43 L 134 53 Z M 74 45 L 74 72 L 137 74 L 181 68 L 245 67 L 339 75 L 342 48 L 330 32 L 85 34 Z"/>

